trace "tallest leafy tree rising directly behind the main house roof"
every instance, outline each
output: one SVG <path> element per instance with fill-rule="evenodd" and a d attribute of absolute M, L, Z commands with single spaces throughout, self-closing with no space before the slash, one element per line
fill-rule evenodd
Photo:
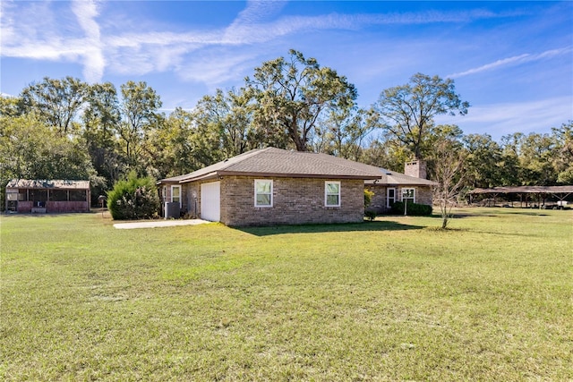
<path fill-rule="evenodd" d="M 260 135 L 278 147 L 290 140 L 295 149 L 306 151 L 317 121 L 332 109 L 355 105 L 355 86 L 346 77 L 316 59 L 304 58 L 293 49 L 290 59 L 279 57 L 255 68 L 247 88 L 258 102 L 255 124 Z"/>

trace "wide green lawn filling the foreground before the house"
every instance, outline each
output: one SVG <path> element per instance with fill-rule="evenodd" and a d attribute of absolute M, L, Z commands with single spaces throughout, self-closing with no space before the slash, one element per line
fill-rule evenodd
<path fill-rule="evenodd" d="M 573 213 L 2 216 L 3 380 L 571 380 Z"/>

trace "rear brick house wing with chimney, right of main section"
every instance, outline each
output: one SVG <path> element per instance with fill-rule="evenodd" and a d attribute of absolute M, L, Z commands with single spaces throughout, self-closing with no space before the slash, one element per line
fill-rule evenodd
<path fill-rule="evenodd" d="M 366 181 L 366 190 L 374 192 L 370 207 L 377 214 L 389 212 L 392 204 L 397 201 L 412 201 L 418 204 L 432 206 L 432 187 L 438 183 L 426 178 L 426 166 L 423 161 L 412 161 L 405 165 L 404 172 L 381 168 L 381 178 Z"/>

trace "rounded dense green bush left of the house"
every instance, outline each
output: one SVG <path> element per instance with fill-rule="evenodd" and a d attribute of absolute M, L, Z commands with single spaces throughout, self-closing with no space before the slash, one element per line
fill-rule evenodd
<path fill-rule="evenodd" d="M 159 197 L 155 181 L 129 174 L 107 192 L 107 208 L 115 220 L 150 219 L 158 216 Z"/>

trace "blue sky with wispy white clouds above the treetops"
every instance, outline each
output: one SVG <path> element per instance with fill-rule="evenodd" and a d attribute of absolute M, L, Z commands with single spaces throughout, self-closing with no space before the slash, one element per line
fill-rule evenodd
<path fill-rule="evenodd" d="M 493 139 L 573 119 L 573 2 L 0 2 L 0 91 L 43 77 L 146 81 L 168 113 L 244 84 L 294 48 L 371 106 L 416 72 L 456 81 L 472 106 L 440 117 Z"/>

